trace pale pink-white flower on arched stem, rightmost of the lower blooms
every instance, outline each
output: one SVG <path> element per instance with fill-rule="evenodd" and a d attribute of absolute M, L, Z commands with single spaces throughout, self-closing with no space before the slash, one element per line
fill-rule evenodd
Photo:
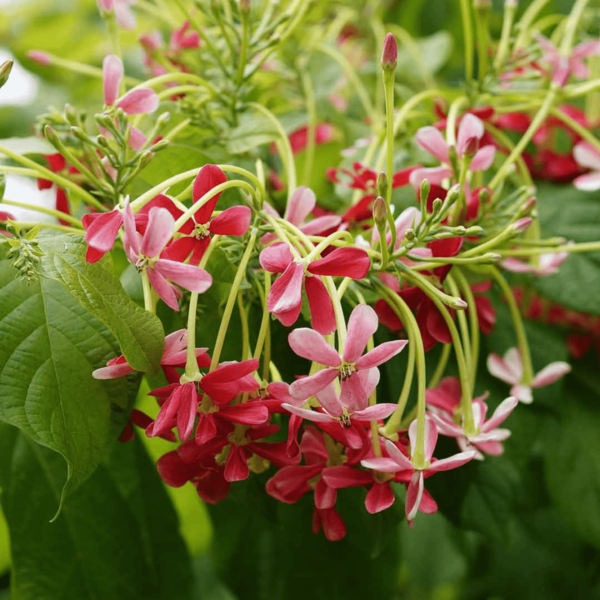
<path fill-rule="evenodd" d="M 510 395 L 526 404 L 531 404 L 533 401 L 532 389 L 550 385 L 571 370 L 571 366 L 566 362 L 553 362 L 544 367 L 531 383 L 525 382 L 523 381 L 523 361 L 518 348 L 511 348 L 504 358 L 494 353 L 490 354 L 487 365 L 488 371 L 494 377 L 512 385 Z"/>

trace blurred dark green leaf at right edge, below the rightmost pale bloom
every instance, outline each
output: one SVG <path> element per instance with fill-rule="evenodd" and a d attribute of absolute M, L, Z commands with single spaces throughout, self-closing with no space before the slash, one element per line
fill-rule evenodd
<path fill-rule="evenodd" d="M 560 516 L 581 538 L 600 548 L 598 395 L 570 376 L 565 404 L 560 423 L 547 428 L 548 490 Z"/>

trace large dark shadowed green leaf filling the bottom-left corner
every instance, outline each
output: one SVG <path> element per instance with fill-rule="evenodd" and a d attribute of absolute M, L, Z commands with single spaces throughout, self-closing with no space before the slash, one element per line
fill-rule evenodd
<path fill-rule="evenodd" d="M 12 600 L 191 598 L 176 516 L 139 440 L 117 445 L 51 524 L 61 473 L 56 454 L 0 425 Z"/>

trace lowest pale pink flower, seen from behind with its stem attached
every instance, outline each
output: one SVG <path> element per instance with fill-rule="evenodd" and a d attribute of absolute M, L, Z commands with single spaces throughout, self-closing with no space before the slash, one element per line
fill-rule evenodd
<path fill-rule="evenodd" d="M 417 421 L 413 421 L 408 429 L 410 439 L 411 456 L 406 456 L 390 440 L 385 441 L 385 449 L 389 458 L 374 457 L 361 461 L 361 465 L 367 469 L 374 469 L 382 473 L 402 473 L 405 480 L 408 481 L 406 490 L 406 518 L 412 522 L 417 512 L 430 514 L 437 511 L 435 500 L 425 490 L 424 480 L 426 477 L 439 473 L 440 471 L 449 471 L 456 469 L 468 463 L 475 458 L 476 452 L 470 450 L 461 452 L 449 458 L 436 460 L 433 457 L 433 451 L 437 443 L 438 431 L 436 424 L 428 417 L 425 420 L 425 466 L 415 466 L 413 463 L 415 450 L 417 447 Z"/>

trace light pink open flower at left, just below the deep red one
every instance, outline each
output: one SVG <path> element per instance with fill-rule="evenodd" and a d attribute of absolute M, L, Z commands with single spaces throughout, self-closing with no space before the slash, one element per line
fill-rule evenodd
<path fill-rule="evenodd" d="M 129 261 L 138 271 L 148 273 L 152 287 L 167 306 L 179 310 L 176 288 L 168 283 L 167 279 L 197 294 L 204 293 L 212 285 L 212 277 L 204 269 L 160 258 L 160 253 L 173 235 L 175 224 L 173 216 L 166 208 L 154 207 L 150 210 L 148 225 L 142 236 L 136 231 L 135 217 L 127 202 L 123 224 L 124 246 Z"/>

